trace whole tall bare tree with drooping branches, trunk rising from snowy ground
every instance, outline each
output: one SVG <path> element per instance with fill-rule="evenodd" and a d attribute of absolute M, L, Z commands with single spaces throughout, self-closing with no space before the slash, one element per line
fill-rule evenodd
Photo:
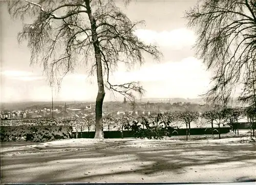
<path fill-rule="evenodd" d="M 125 1 L 127 2 L 127 1 Z M 50 84 L 60 87 L 63 77 L 81 64 L 89 75 L 97 76 L 95 138 L 103 138 L 102 104 L 105 88 L 133 101 L 142 95 L 138 82 L 113 84 L 110 75 L 118 64 L 143 64 L 143 54 L 159 59 L 155 46 L 145 45 L 134 34 L 140 22 L 131 20 L 116 7 L 114 0 L 15 0 L 8 2 L 12 17 L 32 18 L 18 34 L 18 42 L 28 41 L 31 64 L 40 63 Z"/>

